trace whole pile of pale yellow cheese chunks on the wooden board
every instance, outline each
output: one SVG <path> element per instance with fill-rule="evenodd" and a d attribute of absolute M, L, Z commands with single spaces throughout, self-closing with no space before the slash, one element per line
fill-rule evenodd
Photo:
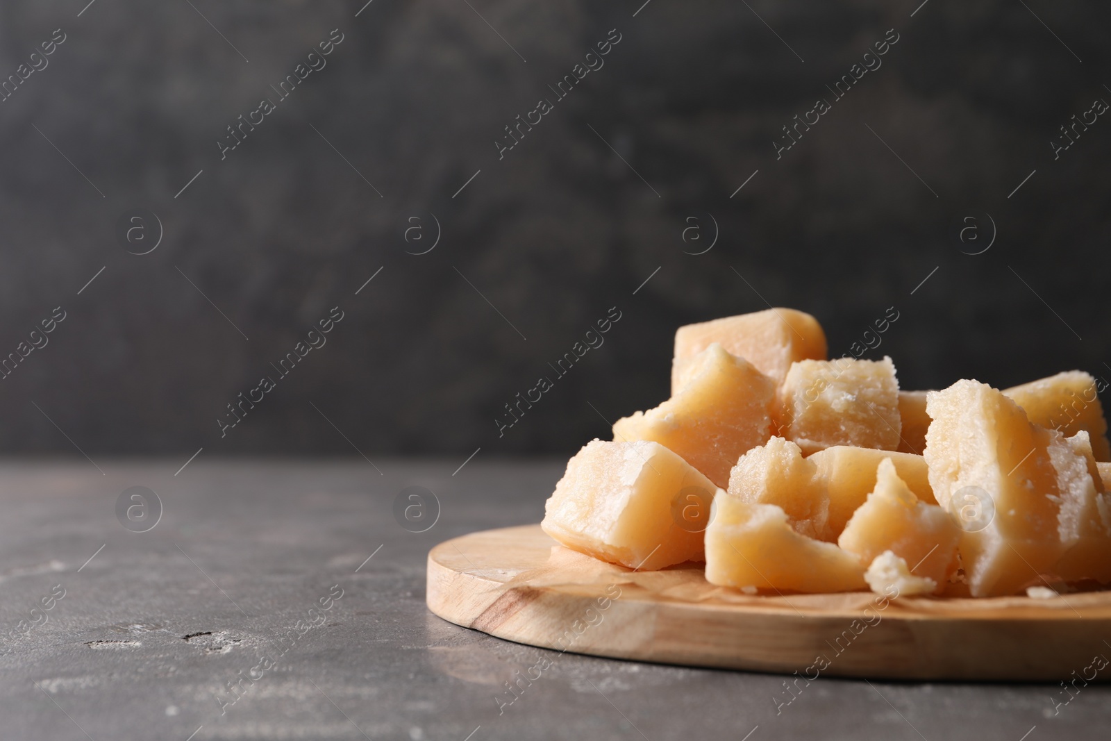
<path fill-rule="evenodd" d="M 671 384 L 569 461 L 548 534 L 632 569 L 704 559 L 745 593 L 1111 584 L 1111 444 L 1088 373 L 900 391 L 890 358 L 827 360 L 813 317 L 770 309 L 681 327 Z"/>

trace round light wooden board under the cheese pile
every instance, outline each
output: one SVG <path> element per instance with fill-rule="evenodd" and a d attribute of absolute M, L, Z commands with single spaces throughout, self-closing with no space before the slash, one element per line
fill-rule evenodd
<path fill-rule="evenodd" d="M 697 564 L 635 572 L 540 525 L 476 532 L 428 554 L 428 607 L 498 638 L 695 667 L 817 675 L 1107 680 L 1111 591 L 1051 599 L 743 594 Z M 1104 660 L 1105 661 L 1105 660 Z"/>

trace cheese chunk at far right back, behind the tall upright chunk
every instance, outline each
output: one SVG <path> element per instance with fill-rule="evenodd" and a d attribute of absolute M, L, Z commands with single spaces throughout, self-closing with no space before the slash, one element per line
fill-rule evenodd
<path fill-rule="evenodd" d="M 1004 389 L 1003 393 L 1022 407 L 1034 424 L 1060 430 L 1067 438 L 1087 431 L 1095 460 L 1111 461 L 1108 423 L 1097 388 L 1095 379 L 1088 373 L 1065 371 Z"/>

